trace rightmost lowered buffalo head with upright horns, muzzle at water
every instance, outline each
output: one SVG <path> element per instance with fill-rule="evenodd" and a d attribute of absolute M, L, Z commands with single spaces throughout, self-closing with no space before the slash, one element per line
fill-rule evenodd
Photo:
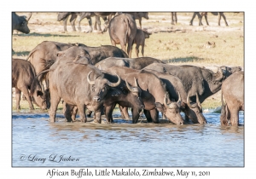
<path fill-rule="evenodd" d="M 196 102 L 194 104 L 190 104 L 189 95 L 188 95 L 187 105 L 189 108 L 186 107 L 185 113 L 193 121 L 193 123 L 207 124 L 207 120 L 202 114 L 201 102 L 199 101 L 197 94 L 196 94 Z"/>

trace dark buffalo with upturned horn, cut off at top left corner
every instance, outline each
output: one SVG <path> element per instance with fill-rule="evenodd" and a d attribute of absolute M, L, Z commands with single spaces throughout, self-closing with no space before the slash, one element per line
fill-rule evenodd
<path fill-rule="evenodd" d="M 12 33 L 14 30 L 23 33 L 29 33 L 30 30 L 27 26 L 28 20 L 30 20 L 32 13 L 26 18 L 25 15 L 19 16 L 15 12 L 12 12 Z"/>

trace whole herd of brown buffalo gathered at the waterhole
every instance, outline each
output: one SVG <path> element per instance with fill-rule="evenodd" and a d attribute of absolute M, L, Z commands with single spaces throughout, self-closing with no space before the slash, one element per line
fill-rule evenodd
<path fill-rule="evenodd" d="M 78 15 L 70 14 L 73 18 Z M 70 14 L 59 14 L 58 18 L 67 22 Z M 110 13 L 87 17 L 92 15 L 105 17 Z M 142 16 L 143 13 L 137 18 Z M 23 20 L 27 27 L 29 18 L 13 13 L 14 19 Z M 150 35 L 137 28 L 135 19 L 132 13 L 121 13 L 108 21 L 113 45 L 90 47 L 83 43 L 44 41 L 32 49 L 26 60 L 13 58 L 12 87 L 17 110 L 22 92 L 31 110 L 32 102 L 49 109 L 50 122 L 55 122 L 58 104 L 63 101 L 67 122 L 75 121 L 76 113 L 80 121 L 86 122 L 87 110 L 94 112 L 95 123 L 102 123 L 102 114 L 107 123 L 113 123 L 113 109 L 119 105 L 124 118 L 130 118 L 131 108 L 133 124 L 142 113 L 153 123 L 160 123 L 161 113 L 173 124 L 183 124 L 184 120 L 207 124 L 201 103 L 222 90 L 221 124 L 238 125 L 238 112 L 244 110 L 241 67 L 218 66 L 217 72 L 213 72 L 201 66 L 168 65 L 152 57 L 131 58 L 132 44 L 143 45 L 140 38 Z M 26 27 L 20 32 L 28 33 Z M 13 26 L 13 30 L 20 28 Z M 121 49 L 115 44 L 120 44 Z"/>

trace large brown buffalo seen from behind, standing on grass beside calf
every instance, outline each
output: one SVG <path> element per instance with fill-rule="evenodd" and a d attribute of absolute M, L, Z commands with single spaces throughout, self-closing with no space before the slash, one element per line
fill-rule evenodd
<path fill-rule="evenodd" d="M 137 33 L 136 22 L 131 14 L 118 14 L 113 17 L 108 26 L 109 37 L 113 46 L 121 45 L 131 58 L 131 48 Z M 127 50 L 126 44 L 128 44 Z"/>

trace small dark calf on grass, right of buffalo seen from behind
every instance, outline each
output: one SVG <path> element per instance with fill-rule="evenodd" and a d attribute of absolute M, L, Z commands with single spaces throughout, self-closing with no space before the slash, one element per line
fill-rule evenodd
<path fill-rule="evenodd" d="M 136 43 L 135 52 L 138 57 L 139 46 L 142 46 L 142 55 L 144 56 L 144 46 L 145 46 L 145 38 L 149 38 L 151 33 L 143 31 L 141 29 L 137 29 L 136 36 L 133 40 L 133 43 Z"/>

